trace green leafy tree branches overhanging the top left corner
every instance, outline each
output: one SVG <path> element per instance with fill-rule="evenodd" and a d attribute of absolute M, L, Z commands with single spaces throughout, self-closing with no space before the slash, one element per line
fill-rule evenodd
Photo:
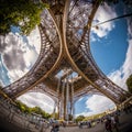
<path fill-rule="evenodd" d="M 18 26 L 22 34 L 28 35 L 41 22 L 41 12 L 48 4 L 33 0 L 0 0 L 0 34 Z"/>

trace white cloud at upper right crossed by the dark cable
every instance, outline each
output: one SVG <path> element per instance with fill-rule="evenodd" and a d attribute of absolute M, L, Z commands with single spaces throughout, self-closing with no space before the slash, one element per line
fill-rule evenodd
<path fill-rule="evenodd" d="M 95 21 L 92 22 L 92 25 L 96 25 L 97 23 L 105 22 L 107 20 L 113 19 L 117 16 L 117 13 L 114 9 L 109 7 L 107 3 L 103 6 L 100 6 L 96 15 L 95 15 Z M 99 37 L 106 36 L 112 29 L 114 28 L 114 23 L 107 22 L 105 24 L 100 24 L 99 29 L 97 30 L 96 28 L 91 28 L 91 41 L 95 41 L 95 34 Z"/>

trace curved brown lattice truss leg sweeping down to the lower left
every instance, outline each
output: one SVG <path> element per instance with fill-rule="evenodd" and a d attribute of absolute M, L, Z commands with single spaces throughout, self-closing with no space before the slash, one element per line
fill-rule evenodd
<path fill-rule="evenodd" d="M 2 89 L 11 98 L 28 91 L 31 89 L 31 86 L 36 86 L 40 82 L 37 80 L 42 81 L 59 54 L 58 35 L 53 20 L 46 10 L 43 12 L 38 29 L 41 34 L 41 52 L 36 63 L 25 76 Z"/>

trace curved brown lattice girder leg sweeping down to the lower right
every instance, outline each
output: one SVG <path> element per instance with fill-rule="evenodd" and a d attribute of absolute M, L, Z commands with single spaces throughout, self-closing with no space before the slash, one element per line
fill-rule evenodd
<path fill-rule="evenodd" d="M 73 13 L 70 12 L 68 14 L 66 28 L 66 42 L 68 46 L 68 52 L 75 65 L 77 65 L 79 70 L 82 72 L 82 76 L 85 76 L 88 82 L 90 82 L 92 87 L 95 87 L 100 92 L 109 97 L 116 103 L 120 103 L 121 101 L 124 101 L 127 98 L 129 98 L 130 94 L 118 87 L 102 74 L 102 72 L 96 65 L 90 53 L 89 34 L 91 21 L 94 19 L 95 11 L 98 7 L 98 2 L 95 2 L 91 13 L 88 14 L 86 19 L 84 19 L 85 7 L 86 4 L 81 6 L 81 3 L 79 3 L 75 8 L 75 10 L 78 11 L 74 11 L 73 9 Z M 82 21 L 79 20 L 85 21 L 85 24 L 82 23 Z"/>

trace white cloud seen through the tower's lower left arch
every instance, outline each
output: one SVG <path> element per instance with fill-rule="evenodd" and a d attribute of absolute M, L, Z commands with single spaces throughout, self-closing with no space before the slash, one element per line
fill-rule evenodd
<path fill-rule="evenodd" d="M 41 92 L 29 92 L 19 97 L 18 100 L 21 100 L 29 107 L 40 107 L 48 113 L 53 113 L 54 100 L 48 96 Z"/>

